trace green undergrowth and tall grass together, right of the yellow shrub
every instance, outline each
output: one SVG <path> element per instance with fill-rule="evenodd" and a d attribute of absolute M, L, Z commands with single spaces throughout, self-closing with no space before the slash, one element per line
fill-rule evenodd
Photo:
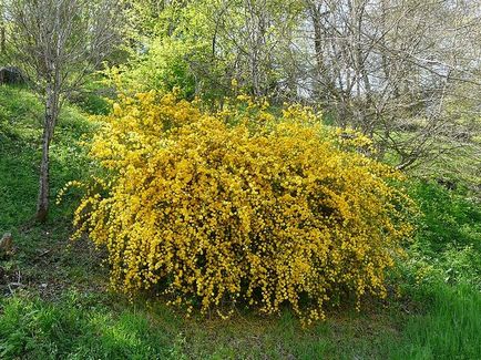
<path fill-rule="evenodd" d="M 405 346 L 391 357 L 475 359 L 481 353 L 480 204 L 433 182 L 412 179 L 408 188 L 423 216 L 391 279 L 410 310 Z"/>

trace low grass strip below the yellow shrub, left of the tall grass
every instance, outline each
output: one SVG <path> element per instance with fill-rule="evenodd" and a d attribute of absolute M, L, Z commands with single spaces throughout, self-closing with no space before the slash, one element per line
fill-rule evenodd
<path fill-rule="evenodd" d="M 383 330 L 368 319 L 339 319 L 301 329 L 282 318 L 187 320 L 162 305 L 119 305 L 65 292 L 55 302 L 10 299 L 0 318 L 0 354 L 31 359 L 316 359 L 383 356 Z M 366 329 L 371 333 L 365 333 Z M 382 352 L 380 352 L 382 350 Z"/>

